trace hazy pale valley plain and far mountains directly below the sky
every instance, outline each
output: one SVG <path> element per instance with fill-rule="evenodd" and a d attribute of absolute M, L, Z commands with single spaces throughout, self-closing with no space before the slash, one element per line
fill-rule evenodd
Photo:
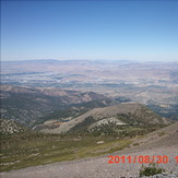
<path fill-rule="evenodd" d="M 178 120 L 178 62 L 26 60 L 1 62 L 1 83 L 127 97 Z"/>

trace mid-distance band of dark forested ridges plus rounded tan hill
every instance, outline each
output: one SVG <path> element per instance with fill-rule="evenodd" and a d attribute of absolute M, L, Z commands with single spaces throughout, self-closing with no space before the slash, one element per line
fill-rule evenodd
<path fill-rule="evenodd" d="M 1 85 L 0 96 L 1 118 L 38 130 L 49 128 L 51 131 L 52 128 L 52 132 L 56 130 L 63 132 L 74 128 L 78 130 L 80 124 L 90 130 L 99 123 L 103 126 L 103 122 L 116 126 L 135 122 L 142 124 L 168 122 L 145 106 L 128 98 L 111 99 L 94 92 Z M 124 100 L 126 104 L 118 105 Z"/>

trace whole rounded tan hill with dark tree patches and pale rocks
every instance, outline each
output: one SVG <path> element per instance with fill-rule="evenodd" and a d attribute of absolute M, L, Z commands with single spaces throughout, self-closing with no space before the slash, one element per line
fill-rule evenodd
<path fill-rule="evenodd" d="M 147 107 L 137 103 L 120 104 L 104 108 L 92 109 L 79 117 L 66 121 L 55 121 L 56 128 L 44 127 L 41 131 L 50 133 L 97 133 L 123 134 L 144 132 L 145 128 L 155 129 L 156 126 L 170 123 Z M 51 123 L 50 123 L 51 126 Z"/>

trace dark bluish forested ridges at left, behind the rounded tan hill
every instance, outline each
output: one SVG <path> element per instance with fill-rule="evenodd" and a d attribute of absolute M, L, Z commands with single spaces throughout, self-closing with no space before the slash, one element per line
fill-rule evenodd
<path fill-rule="evenodd" d="M 91 107 L 109 106 L 112 103 L 108 97 L 94 92 L 82 93 L 76 91 L 31 88 L 13 85 L 1 85 L 0 97 L 1 118 L 12 119 L 27 126 L 33 124 L 39 118 L 50 117 L 50 115 L 54 116 L 55 111 L 66 112 L 68 110 L 66 115 L 71 116 L 72 112 L 69 111 L 72 105 L 78 105 L 78 108 L 81 108 L 80 114 L 81 111 L 87 111 Z M 86 106 L 82 107 L 80 104 L 86 104 Z"/>

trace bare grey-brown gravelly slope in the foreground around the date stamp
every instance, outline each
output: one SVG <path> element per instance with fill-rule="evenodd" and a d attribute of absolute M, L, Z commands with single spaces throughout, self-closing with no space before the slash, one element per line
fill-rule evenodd
<path fill-rule="evenodd" d="M 135 140 L 139 146 L 132 145 L 110 155 L 118 156 L 168 156 L 167 164 L 158 164 L 166 173 L 177 173 L 178 164 L 178 123 L 147 134 L 146 138 Z M 61 162 L 44 166 L 34 166 L 19 170 L 1 173 L 1 178 L 118 178 L 139 177 L 142 167 L 140 163 L 108 164 L 108 155 L 94 158 L 84 158 L 72 162 Z M 144 164 L 145 166 L 149 164 Z"/>

